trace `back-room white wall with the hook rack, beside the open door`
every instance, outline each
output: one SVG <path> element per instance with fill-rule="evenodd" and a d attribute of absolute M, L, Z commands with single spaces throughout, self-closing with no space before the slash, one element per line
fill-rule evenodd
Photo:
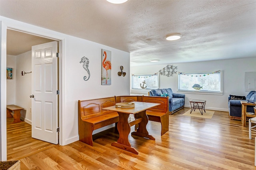
<path fill-rule="evenodd" d="M 16 56 L 16 105 L 23 107 L 21 119 L 31 124 L 31 73 L 21 76 L 21 71 L 31 71 L 31 51 Z M 24 117 L 26 115 L 26 117 Z"/>

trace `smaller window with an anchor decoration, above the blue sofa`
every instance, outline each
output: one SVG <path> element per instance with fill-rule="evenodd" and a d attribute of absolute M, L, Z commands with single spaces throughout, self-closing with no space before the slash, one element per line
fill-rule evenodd
<path fill-rule="evenodd" d="M 159 74 L 132 74 L 132 89 L 159 88 Z"/>

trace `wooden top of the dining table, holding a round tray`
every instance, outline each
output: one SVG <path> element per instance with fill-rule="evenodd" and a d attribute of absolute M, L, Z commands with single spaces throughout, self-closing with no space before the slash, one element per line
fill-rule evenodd
<path fill-rule="evenodd" d="M 149 103 L 149 102 L 130 102 L 130 103 L 134 103 L 135 106 L 130 107 L 130 108 L 118 108 L 116 106 L 110 106 L 110 107 L 105 107 L 105 108 L 102 108 L 102 109 L 117 111 L 117 112 L 121 112 L 121 113 L 135 114 L 135 113 L 139 113 L 140 111 L 144 111 L 146 109 L 149 109 L 151 107 L 155 107 L 155 106 L 160 105 L 159 103 Z"/>

